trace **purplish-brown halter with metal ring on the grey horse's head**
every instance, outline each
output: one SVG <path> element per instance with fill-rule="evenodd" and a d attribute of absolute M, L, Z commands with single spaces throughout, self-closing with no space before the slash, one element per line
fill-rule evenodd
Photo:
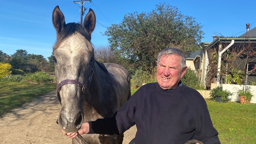
<path fill-rule="evenodd" d="M 87 95 L 89 101 L 91 100 L 91 94 L 88 92 L 88 89 L 90 87 L 90 84 L 91 84 L 91 79 L 92 79 L 92 73 L 93 73 L 93 67 L 94 67 L 94 58 L 92 59 L 93 61 L 93 64 L 92 64 L 92 67 L 91 67 L 91 77 L 89 78 L 89 83 L 88 85 L 84 85 L 82 83 L 80 83 L 79 81 L 77 80 L 72 80 L 72 79 L 66 79 L 66 80 L 63 80 L 61 81 L 59 84 L 57 84 L 57 87 L 56 87 L 56 96 L 59 100 L 59 103 L 61 104 L 61 97 L 60 97 L 60 94 L 59 94 L 59 90 L 61 89 L 62 86 L 66 85 L 66 84 L 75 84 L 77 86 L 79 86 L 79 88 L 82 89 L 83 93 L 85 95 Z"/>

